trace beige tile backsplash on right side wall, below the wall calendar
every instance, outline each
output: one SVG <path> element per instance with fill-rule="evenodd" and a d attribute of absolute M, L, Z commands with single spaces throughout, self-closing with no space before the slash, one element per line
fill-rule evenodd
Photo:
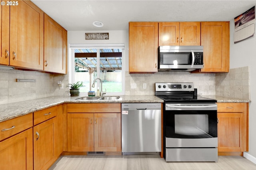
<path fill-rule="evenodd" d="M 230 69 L 228 73 L 216 73 L 216 95 L 250 99 L 249 73 L 249 66 Z"/>

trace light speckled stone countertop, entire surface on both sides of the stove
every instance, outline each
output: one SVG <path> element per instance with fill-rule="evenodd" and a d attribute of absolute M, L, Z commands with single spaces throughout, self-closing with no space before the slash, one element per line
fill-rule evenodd
<path fill-rule="evenodd" d="M 135 95 L 127 96 L 121 95 L 120 99 L 117 100 L 76 100 L 80 97 L 64 97 L 54 96 L 45 97 L 41 99 L 33 99 L 27 101 L 20 101 L 15 103 L 8 103 L 0 105 L 0 122 L 6 121 L 15 117 L 40 111 L 48 107 L 56 106 L 62 103 L 163 103 L 164 101 L 154 95 Z M 248 103 L 250 100 L 234 99 L 220 96 L 201 96 L 210 99 L 216 99 L 217 102 L 235 102 L 235 103 Z"/>

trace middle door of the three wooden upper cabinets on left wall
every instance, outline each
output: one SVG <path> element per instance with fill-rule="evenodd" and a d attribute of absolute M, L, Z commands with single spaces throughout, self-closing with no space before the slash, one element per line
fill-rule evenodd
<path fill-rule="evenodd" d="M 10 65 L 43 70 L 44 12 L 31 1 L 10 6 Z"/>

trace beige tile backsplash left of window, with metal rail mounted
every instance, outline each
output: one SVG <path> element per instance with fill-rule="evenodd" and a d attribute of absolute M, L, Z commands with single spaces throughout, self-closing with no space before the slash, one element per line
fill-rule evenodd
<path fill-rule="evenodd" d="M 36 82 L 16 82 L 16 79 L 35 79 Z M 60 90 L 58 81 L 66 85 L 68 76 L 0 69 L 0 104 L 68 94 L 64 91 L 66 88 Z"/>

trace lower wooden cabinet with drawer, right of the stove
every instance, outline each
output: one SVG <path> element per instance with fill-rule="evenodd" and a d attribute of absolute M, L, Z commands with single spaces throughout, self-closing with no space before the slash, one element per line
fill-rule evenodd
<path fill-rule="evenodd" d="M 218 154 L 248 151 L 248 103 L 218 103 Z"/>

